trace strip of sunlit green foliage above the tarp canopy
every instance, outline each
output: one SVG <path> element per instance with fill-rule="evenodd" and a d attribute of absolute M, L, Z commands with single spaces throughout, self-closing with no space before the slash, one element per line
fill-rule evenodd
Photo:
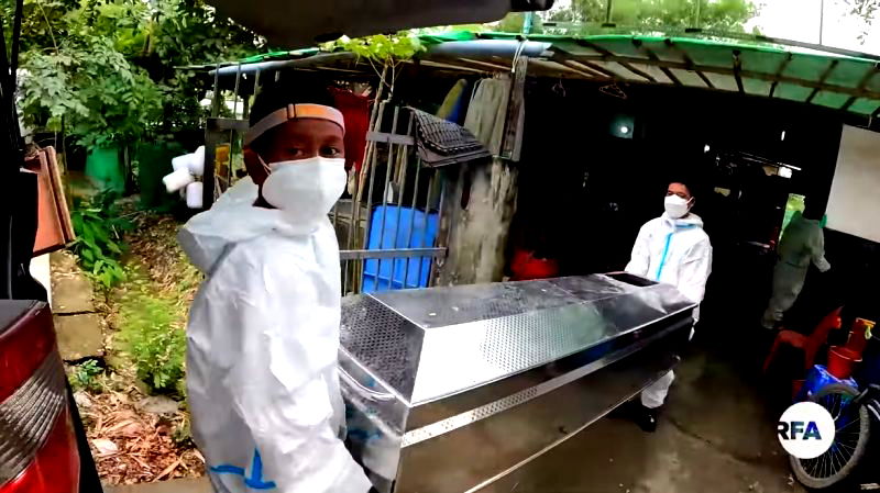
<path fill-rule="evenodd" d="M 684 30 L 738 31 L 757 13 L 749 0 L 615 0 L 612 22 L 638 32 Z M 551 21 L 592 24 L 590 34 L 606 20 L 605 0 L 572 0 L 571 7 L 554 12 Z"/>

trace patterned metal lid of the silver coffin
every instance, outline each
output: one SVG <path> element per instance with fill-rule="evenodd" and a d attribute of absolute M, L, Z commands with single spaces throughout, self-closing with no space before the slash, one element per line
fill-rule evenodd
<path fill-rule="evenodd" d="M 693 309 L 674 288 L 582 276 L 346 298 L 342 348 L 410 405 L 588 349 Z"/>

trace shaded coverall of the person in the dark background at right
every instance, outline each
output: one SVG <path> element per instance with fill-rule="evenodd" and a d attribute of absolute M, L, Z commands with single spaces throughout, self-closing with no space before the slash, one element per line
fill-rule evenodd
<path fill-rule="evenodd" d="M 832 268 L 825 260 L 825 234 L 817 220 L 809 220 L 800 212 L 791 219 L 778 248 L 779 261 L 773 269 L 773 293 L 761 324 L 773 328 L 791 309 L 804 288 L 806 272 L 812 262 L 826 272 Z"/>

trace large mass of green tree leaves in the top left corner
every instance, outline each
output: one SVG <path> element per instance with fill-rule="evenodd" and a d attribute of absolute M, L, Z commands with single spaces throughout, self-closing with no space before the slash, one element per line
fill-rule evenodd
<path fill-rule="evenodd" d="M 0 0 L 11 19 L 14 0 Z M 176 67 L 255 54 L 264 42 L 201 0 L 24 0 L 21 112 L 86 147 L 201 125 L 209 81 Z"/>

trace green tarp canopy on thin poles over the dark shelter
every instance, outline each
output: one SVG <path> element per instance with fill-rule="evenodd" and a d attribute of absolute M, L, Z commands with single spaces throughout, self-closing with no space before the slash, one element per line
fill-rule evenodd
<path fill-rule="evenodd" d="M 818 46 L 656 35 L 530 35 L 525 40 L 521 34 L 452 32 L 422 35 L 420 40 L 427 51 L 417 57 L 426 67 L 472 72 L 509 70 L 516 54 L 522 53 L 529 57 L 529 75 L 536 77 L 694 87 L 810 103 L 862 117 L 880 115 L 880 57 L 872 55 Z M 280 52 L 241 64 L 270 63 L 276 69 L 277 61 L 286 59 L 292 68 L 361 67 L 372 71 L 370 64 L 353 55 L 333 55 L 330 58 L 317 49 Z M 231 74 L 231 68 L 221 70 L 221 75 Z"/>

